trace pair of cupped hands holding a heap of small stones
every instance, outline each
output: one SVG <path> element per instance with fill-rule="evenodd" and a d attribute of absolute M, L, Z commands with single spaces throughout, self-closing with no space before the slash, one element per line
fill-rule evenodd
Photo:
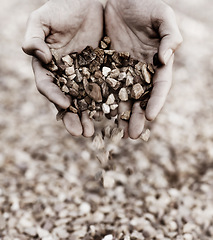
<path fill-rule="evenodd" d="M 146 111 L 140 102 L 121 102 L 118 116 L 131 110 L 130 120 L 118 118 L 124 136 L 137 139 L 145 119 L 156 118 L 163 107 L 172 83 L 174 52 L 182 42 L 175 14 L 162 0 L 108 0 L 105 8 L 98 0 L 49 0 L 32 12 L 25 34 L 23 50 L 32 55 L 38 91 L 57 109 L 70 106 L 70 99 L 53 83 L 42 66 L 51 61 L 50 49 L 59 56 L 80 52 L 86 46 L 97 47 L 103 32 L 111 39 L 111 49 L 127 51 L 132 57 L 153 62 L 158 53 L 161 65 L 153 77 L 154 87 Z M 94 123 L 87 111 L 81 116 L 67 112 L 64 125 L 73 136 L 91 137 Z"/>

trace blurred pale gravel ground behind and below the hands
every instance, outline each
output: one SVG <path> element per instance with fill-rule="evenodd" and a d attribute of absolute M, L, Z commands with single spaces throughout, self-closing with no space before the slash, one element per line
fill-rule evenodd
<path fill-rule="evenodd" d="M 1 2 L 0 239 L 213 239 L 211 0 L 168 0 L 184 43 L 167 103 L 148 142 L 105 141 L 105 170 L 92 139 L 56 122 L 22 53 L 27 17 L 42 2 Z"/>

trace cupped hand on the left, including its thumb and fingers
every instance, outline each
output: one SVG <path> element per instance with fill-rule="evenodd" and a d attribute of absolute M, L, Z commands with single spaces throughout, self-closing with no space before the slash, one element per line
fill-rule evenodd
<path fill-rule="evenodd" d="M 39 92 L 57 109 L 68 108 L 70 99 L 42 67 L 42 63 L 47 64 L 52 59 L 50 48 L 62 57 L 79 52 L 87 45 L 97 47 L 102 35 L 103 7 L 97 0 L 50 0 L 31 14 L 23 50 L 34 56 L 32 66 Z M 86 111 L 81 119 L 77 114 L 67 112 L 63 122 L 73 136 L 90 137 L 94 133 L 94 124 Z"/>

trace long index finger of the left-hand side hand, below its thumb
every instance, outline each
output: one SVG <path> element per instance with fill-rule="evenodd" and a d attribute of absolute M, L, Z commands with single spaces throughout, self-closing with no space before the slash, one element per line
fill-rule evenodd
<path fill-rule="evenodd" d="M 36 58 L 33 58 L 32 66 L 38 91 L 49 101 L 59 105 L 61 108 L 68 108 L 70 106 L 70 100 L 59 87 L 53 83 L 53 77 L 50 76 L 50 72 L 43 68 L 41 62 Z"/>

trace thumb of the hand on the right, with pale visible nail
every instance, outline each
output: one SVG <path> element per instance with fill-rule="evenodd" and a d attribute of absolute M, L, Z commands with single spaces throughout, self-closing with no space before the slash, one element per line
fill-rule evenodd
<path fill-rule="evenodd" d="M 159 17 L 162 19 L 162 16 Z M 174 11 L 168 5 L 164 9 L 163 19 L 158 31 L 161 39 L 158 50 L 159 60 L 163 64 L 167 64 L 172 54 L 183 41 Z"/>

